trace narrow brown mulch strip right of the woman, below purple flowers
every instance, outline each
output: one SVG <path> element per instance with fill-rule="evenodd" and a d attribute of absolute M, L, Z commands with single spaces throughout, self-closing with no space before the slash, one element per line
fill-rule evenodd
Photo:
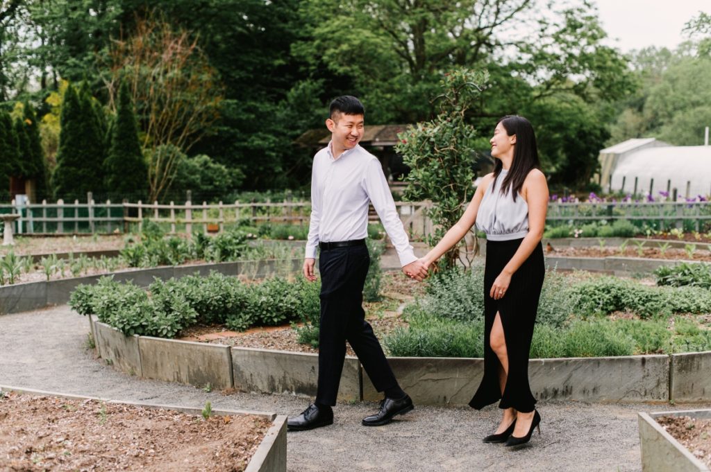
<path fill-rule="evenodd" d="M 545 249 L 547 256 L 553 257 L 570 257 L 570 258 L 606 258 L 606 257 L 627 257 L 627 258 L 646 258 L 646 259 L 666 259 L 666 260 L 698 260 L 700 262 L 711 262 L 711 252 L 708 248 L 703 248 L 700 245 L 696 246 L 693 252 L 693 257 L 683 249 L 669 248 L 664 253 L 658 248 L 642 248 L 641 255 L 638 253 L 634 243 L 630 243 L 624 251 L 619 248 L 556 248 L 555 241 Z"/>

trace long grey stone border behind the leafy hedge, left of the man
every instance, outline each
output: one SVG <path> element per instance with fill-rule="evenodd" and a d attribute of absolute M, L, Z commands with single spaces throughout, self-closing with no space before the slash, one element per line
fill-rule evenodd
<path fill-rule="evenodd" d="M 279 261 L 282 263 L 284 261 Z M 291 270 L 301 270 L 303 258 L 290 259 Z M 241 260 L 237 262 L 164 265 L 147 269 L 121 270 L 119 272 L 101 275 L 86 275 L 85 277 L 64 278 L 58 280 L 43 280 L 41 282 L 25 282 L 0 287 L 0 314 L 29 312 L 48 305 L 65 304 L 69 301 L 71 292 L 80 284 L 91 284 L 101 277 L 113 275 L 118 282 L 133 280 L 139 287 L 147 287 L 155 277 L 161 280 L 181 278 L 193 273 L 208 275 L 210 271 L 225 275 L 246 274 L 261 278 L 273 274 L 277 260 Z"/>

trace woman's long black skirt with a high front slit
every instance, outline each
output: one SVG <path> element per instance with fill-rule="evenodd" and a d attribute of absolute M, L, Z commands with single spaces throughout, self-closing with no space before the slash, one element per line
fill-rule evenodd
<path fill-rule="evenodd" d="M 538 299 L 545 277 L 543 248 L 540 243 L 533 253 L 516 270 L 511 283 L 500 300 L 489 296 L 494 280 L 511 260 L 521 239 L 511 241 L 486 241 L 486 266 L 484 268 L 484 375 L 469 406 L 480 410 L 501 399 L 498 407 L 532 412 L 535 398 L 528 385 L 528 353 L 533 326 L 538 312 Z M 496 313 L 501 325 L 508 353 L 508 378 L 501 393 L 498 370 L 501 363 L 491 349 L 490 337 Z"/>

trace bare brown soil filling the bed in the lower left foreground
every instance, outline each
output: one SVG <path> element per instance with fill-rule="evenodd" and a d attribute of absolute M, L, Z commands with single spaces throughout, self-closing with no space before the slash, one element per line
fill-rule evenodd
<path fill-rule="evenodd" d="M 0 394 L 3 471 L 244 471 L 269 429 L 257 416 L 186 415 Z"/>

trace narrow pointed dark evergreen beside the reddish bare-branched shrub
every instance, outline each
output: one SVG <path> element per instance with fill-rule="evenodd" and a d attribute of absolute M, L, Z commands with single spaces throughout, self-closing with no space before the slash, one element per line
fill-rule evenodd
<path fill-rule="evenodd" d="M 116 116 L 109 126 L 111 145 L 105 161 L 106 188 L 118 197 L 145 198 L 148 190 L 148 165 L 141 153 L 131 92 L 121 84 Z"/>

